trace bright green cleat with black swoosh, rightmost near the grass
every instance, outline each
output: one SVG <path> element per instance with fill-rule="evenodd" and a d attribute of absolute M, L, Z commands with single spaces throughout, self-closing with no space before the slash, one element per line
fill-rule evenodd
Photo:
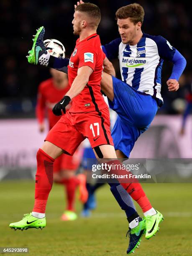
<path fill-rule="evenodd" d="M 161 212 L 156 210 L 156 214 L 146 216 L 146 235 L 145 238 L 149 239 L 152 236 L 155 236 L 155 233 L 159 231 L 159 223 L 164 220 Z"/>

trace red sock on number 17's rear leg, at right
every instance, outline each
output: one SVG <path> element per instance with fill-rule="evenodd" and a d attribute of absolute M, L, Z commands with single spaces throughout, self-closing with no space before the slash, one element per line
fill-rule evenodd
<path fill-rule="evenodd" d="M 115 165 L 122 165 L 122 163 L 119 160 L 113 160 L 109 161 L 107 164 L 114 164 Z M 114 174 L 127 174 L 127 172 L 121 168 L 118 167 L 118 169 L 110 170 L 110 172 L 113 172 Z M 129 183 L 124 183 L 125 179 L 118 179 L 120 184 L 125 188 L 125 190 L 131 195 L 133 200 L 135 200 L 138 205 L 141 207 L 143 212 L 148 211 L 152 208 L 151 203 L 149 202 L 148 198 L 146 197 L 145 192 L 143 191 L 143 188 L 141 187 L 141 184 L 138 182 L 136 178 L 131 178 Z"/>

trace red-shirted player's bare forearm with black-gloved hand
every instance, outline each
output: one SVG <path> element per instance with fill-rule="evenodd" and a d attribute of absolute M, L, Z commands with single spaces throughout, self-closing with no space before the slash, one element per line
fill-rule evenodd
<path fill-rule="evenodd" d="M 77 77 L 75 77 L 70 90 L 67 94 L 54 106 L 53 113 L 54 115 L 62 115 L 61 110 L 63 113 L 66 113 L 66 106 L 69 102 L 77 96 L 89 82 L 90 75 L 92 74 L 93 69 L 88 66 L 80 67 L 77 71 Z"/>

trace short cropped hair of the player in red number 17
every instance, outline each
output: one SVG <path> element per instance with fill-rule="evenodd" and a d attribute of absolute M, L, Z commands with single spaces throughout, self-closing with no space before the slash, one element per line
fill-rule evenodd
<path fill-rule="evenodd" d="M 92 20 L 91 26 L 98 27 L 101 20 L 100 8 L 92 3 L 83 3 L 75 8 L 75 11 L 86 13 Z"/>

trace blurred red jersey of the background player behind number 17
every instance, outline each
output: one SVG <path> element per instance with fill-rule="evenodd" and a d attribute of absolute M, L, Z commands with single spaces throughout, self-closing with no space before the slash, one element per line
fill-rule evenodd
<path fill-rule="evenodd" d="M 69 85 L 64 89 L 57 89 L 54 86 L 53 79 L 47 79 L 42 82 L 38 87 L 38 98 L 36 106 L 36 116 L 39 123 L 43 123 L 45 118 L 45 110 L 48 113 L 49 128 L 51 129 L 61 116 L 54 115 L 52 108 L 59 102 L 64 95 L 69 91 Z M 67 106 L 66 110 L 69 109 L 70 105 Z"/>

